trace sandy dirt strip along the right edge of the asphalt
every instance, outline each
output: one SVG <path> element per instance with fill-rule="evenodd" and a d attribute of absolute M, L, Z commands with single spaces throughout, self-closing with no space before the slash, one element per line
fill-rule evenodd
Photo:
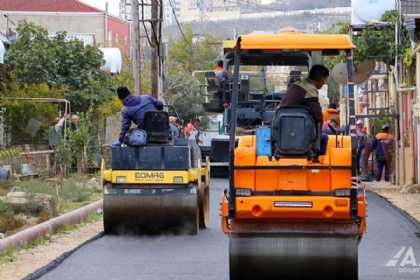
<path fill-rule="evenodd" d="M 395 186 L 387 182 L 369 182 L 367 189 L 388 199 L 420 222 L 420 186 Z"/>

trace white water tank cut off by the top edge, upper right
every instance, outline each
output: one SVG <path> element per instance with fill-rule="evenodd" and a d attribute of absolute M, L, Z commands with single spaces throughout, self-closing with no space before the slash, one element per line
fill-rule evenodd
<path fill-rule="evenodd" d="M 352 0 L 351 24 L 365 25 L 380 20 L 389 10 L 395 10 L 395 0 Z"/>

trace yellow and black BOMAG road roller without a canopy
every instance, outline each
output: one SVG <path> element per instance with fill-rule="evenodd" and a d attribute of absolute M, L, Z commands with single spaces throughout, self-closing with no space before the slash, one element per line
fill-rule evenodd
<path fill-rule="evenodd" d="M 197 234 L 209 221 L 209 162 L 198 145 L 171 139 L 167 112 L 145 114 L 147 144 L 112 147 L 103 168 L 106 234 Z"/>

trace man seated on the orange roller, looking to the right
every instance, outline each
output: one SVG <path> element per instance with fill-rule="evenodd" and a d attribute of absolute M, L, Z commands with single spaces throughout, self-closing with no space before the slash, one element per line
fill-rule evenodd
<path fill-rule="evenodd" d="M 329 76 L 328 69 L 323 65 L 314 65 L 309 71 L 308 78 L 291 85 L 285 96 L 282 98 L 281 107 L 284 106 L 305 106 L 311 113 L 317 129 L 317 141 L 314 147 L 314 158 L 317 158 L 320 151 L 322 109 L 319 104 L 318 90 L 321 89 Z"/>

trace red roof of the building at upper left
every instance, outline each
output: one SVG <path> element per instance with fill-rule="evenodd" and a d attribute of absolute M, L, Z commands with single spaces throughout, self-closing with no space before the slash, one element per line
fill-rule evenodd
<path fill-rule="evenodd" d="M 1 0 L 0 11 L 19 12 L 103 12 L 77 0 Z"/>

